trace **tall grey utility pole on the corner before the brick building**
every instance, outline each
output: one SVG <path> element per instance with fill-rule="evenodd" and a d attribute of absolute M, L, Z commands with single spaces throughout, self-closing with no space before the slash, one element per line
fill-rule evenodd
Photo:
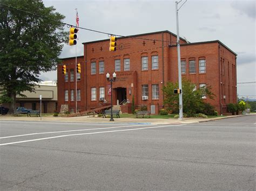
<path fill-rule="evenodd" d="M 182 0 L 181 0 L 182 1 Z M 179 120 L 183 120 L 183 103 L 182 103 L 182 83 L 181 83 L 181 62 L 180 62 L 180 44 L 179 44 L 179 19 L 178 19 L 178 11 L 181 8 L 184 3 L 178 8 L 178 4 L 181 2 L 175 2 L 176 3 L 176 26 L 177 26 L 177 52 L 178 52 L 178 77 L 179 77 L 179 89 L 181 90 L 181 93 L 179 94 Z"/>

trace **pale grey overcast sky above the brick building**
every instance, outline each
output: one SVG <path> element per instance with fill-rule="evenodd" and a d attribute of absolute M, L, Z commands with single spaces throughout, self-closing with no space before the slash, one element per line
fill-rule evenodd
<path fill-rule="evenodd" d="M 43 0 L 65 16 L 64 22 L 121 36 L 169 30 L 177 34 L 175 1 Z M 179 6 L 185 0 L 179 3 Z M 256 99 L 255 1 L 187 0 L 179 10 L 179 34 L 191 43 L 220 40 L 237 53 L 239 97 Z M 69 31 L 66 27 L 66 31 Z M 107 34 L 79 30 L 77 55 L 87 41 L 109 38 Z M 75 56 L 75 46 L 64 45 L 60 58 Z M 182 56 L 182 55 L 181 55 Z M 57 72 L 43 73 L 44 81 L 57 80 Z"/>

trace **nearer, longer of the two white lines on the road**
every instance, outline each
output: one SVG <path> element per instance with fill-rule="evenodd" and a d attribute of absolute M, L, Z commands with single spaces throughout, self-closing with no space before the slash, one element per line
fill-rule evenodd
<path fill-rule="evenodd" d="M 185 124 L 181 124 L 181 125 L 185 125 Z M 78 135 L 91 135 L 91 134 L 110 133 L 110 132 L 118 132 L 118 131 L 132 131 L 132 130 L 140 130 L 140 129 L 164 128 L 166 126 L 181 126 L 181 125 L 151 126 L 149 128 L 123 129 L 123 130 L 114 130 L 114 131 L 99 131 L 99 132 L 91 132 L 91 133 L 79 133 L 79 134 L 62 135 L 62 136 L 55 136 L 55 137 L 45 137 L 45 138 L 40 138 L 40 139 L 23 140 L 21 142 L 4 143 L 4 144 L 0 144 L 0 146 L 12 145 L 12 144 L 17 144 L 17 143 L 35 142 L 36 140 L 54 139 L 54 138 L 60 138 L 60 137 L 70 137 L 70 136 L 78 136 Z"/>

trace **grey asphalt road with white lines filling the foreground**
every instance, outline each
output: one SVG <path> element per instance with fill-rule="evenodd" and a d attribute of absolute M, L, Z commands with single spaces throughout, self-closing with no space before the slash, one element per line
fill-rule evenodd
<path fill-rule="evenodd" d="M 0 189 L 255 190 L 255 128 L 1 121 Z"/>

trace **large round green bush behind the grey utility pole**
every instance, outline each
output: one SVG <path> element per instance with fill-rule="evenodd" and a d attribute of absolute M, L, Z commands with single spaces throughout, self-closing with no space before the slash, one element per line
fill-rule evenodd
<path fill-rule="evenodd" d="M 165 94 L 164 104 L 167 104 L 169 108 L 174 112 L 178 113 L 179 111 L 179 95 L 174 94 L 173 90 L 178 89 L 178 82 L 172 83 L 167 82 L 166 86 L 163 87 Z M 205 102 L 202 98 L 207 96 L 207 98 L 213 99 L 215 96 L 211 92 L 211 87 L 202 87 L 195 90 L 195 85 L 183 79 L 182 81 L 182 91 L 183 91 L 183 112 L 188 116 L 194 116 L 204 108 Z"/>

